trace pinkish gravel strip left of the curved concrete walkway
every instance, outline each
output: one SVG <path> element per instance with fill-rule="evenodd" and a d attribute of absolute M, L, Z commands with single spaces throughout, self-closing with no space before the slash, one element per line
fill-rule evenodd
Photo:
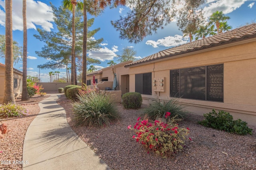
<path fill-rule="evenodd" d="M 22 161 L 22 147 L 26 131 L 30 123 L 40 112 L 38 103 L 49 95 L 35 95 L 28 101 L 21 101 L 17 98 L 16 104 L 22 105 L 29 111 L 28 116 L 0 118 L 0 125 L 5 123 L 8 131 L 4 134 L 4 138 L 0 139 L 0 170 L 20 170 L 22 164 L 16 161 Z"/>

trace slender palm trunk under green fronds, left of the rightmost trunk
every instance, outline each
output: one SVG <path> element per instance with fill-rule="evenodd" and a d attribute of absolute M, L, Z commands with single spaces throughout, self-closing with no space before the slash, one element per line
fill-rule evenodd
<path fill-rule="evenodd" d="M 74 2 L 74 0 L 72 0 L 72 2 Z M 75 64 L 74 64 L 75 63 L 75 10 L 76 10 L 76 4 L 72 3 L 71 84 L 74 84 L 74 72 L 75 72 Z"/>

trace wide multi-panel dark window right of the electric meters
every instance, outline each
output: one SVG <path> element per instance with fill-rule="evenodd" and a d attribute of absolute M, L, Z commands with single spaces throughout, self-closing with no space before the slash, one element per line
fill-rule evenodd
<path fill-rule="evenodd" d="M 223 64 L 170 70 L 170 96 L 223 102 Z"/>

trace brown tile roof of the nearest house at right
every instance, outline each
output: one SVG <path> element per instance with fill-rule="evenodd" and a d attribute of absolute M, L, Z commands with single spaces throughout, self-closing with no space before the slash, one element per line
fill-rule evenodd
<path fill-rule="evenodd" d="M 177 47 L 160 51 L 158 53 L 155 53 L 153 55 L 150 55 L 148 57 L 135 61 L 133 63 L 126 64 L 124 67 L 134 66 L 142 63 L 148 63 L 150 61 L 156 61 L 159 59 L 174 57 L 174 56 L 178 56 L 186 53 L 191 53 L 194 51 L 209 49 L 212 47 L 226 45 L 229 43 L 235 43 L 238 41 L 243 41 L 243 40 L 247 40 L 255 37 L 256 37 L 256 23 L 252 23 L 250 25 L 245 25 L 243 27 L 226 31 L 224 33 L 219 33 L 211 37 L 206 37 L 203 39 L 199 39 L 197 41 L 193 41 Z"/>

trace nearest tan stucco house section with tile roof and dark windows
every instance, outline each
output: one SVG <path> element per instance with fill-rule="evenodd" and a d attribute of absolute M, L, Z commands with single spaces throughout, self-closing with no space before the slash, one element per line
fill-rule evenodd
<path fill-rule="evenodd" d="M 256 125 L 256 23 L 150 55 L 129 68 L 143 103 L 179 97 L 196 114 L 213 108 Z"/>

